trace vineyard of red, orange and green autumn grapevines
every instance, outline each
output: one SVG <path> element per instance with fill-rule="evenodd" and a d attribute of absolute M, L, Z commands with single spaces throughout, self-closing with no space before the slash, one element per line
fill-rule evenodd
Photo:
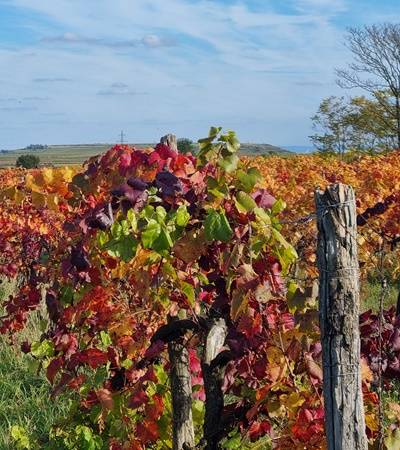
<path fill-rule="evenodd" d="M 15 448 L 324 449 L 315 190 L 351 185 L 370 448 L 400 448 L 400 152 L 239 157 L 212 128 L 0 171 L 0 332 L 63 416 Z M 379 304 L 380 302 L 380 304 Z M 36 340 L 21 339 L 32 321 Z M 1 381 L 0 381 L 1 386 Z M 397 400 L 396 400 L 397 399 Z M 0 420 L 1 415 L 0 415 Z"/>

